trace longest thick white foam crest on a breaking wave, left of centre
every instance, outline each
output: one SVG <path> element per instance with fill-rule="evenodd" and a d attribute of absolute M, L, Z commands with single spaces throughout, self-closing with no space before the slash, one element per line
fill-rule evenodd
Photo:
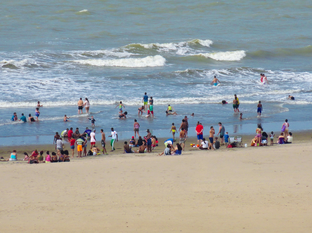
<path fill-rule="evenodd" d="M 124 58 L 124 59 L 85 59 L 74 60 L 73 62 L 95 65 L 95 66 L 121 66 L 121 67 L 147 67 L 147 66 L 163 66 L 166 62 L 160 55 L 148 56 L 144 58 Z"/>

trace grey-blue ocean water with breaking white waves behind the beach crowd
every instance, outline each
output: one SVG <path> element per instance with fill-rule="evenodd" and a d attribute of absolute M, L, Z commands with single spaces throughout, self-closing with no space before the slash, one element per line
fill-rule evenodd
<path fill-rule="evenodd" d="M 133 135 L 134 118 L 143 135 L 149 128 L 171 136 L 184 115 L 190 136 L 197 121 L 204 134 L 219 121 L 236 135 L 254 133 L 257 123 L 280 131 L 286 118 L 291 131 L 312 129 L 311 10 L 311 1 L 286 0 L 2 2 L 2 143 L 51 143 L 56 131 L 90 127 L 90 115 L 77 114 L 80 97 L 90 101 L 97 132 L 114 127 L 120 139 Z M 153 119 L 138 118 L 144 92 L 153 96 Z M 234 94 L 246 120 L 233 112 Z M 34 115 L 37 101 L 39 122 L 10 120 L 13 112 Z M 126 120 L 118 119 L 119 101 Z M 165 116 L 168 104 L 178 116 Z"/>

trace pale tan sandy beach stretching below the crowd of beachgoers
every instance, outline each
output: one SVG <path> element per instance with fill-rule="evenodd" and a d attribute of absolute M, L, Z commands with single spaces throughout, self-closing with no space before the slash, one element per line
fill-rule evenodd
<path fill-rule="evenodd" d="M 244 136 L 247 148 L 216 151 L 191 148 L 189 139 L 179 156 L 156 156 L 159 143 L 143 155 L 117 149 L 69 163 L 1 162 L 2 231 L 309 232 L 310 135 L 258 148 Z M 14 149 L 21 159 L 34 148 Z"/>

